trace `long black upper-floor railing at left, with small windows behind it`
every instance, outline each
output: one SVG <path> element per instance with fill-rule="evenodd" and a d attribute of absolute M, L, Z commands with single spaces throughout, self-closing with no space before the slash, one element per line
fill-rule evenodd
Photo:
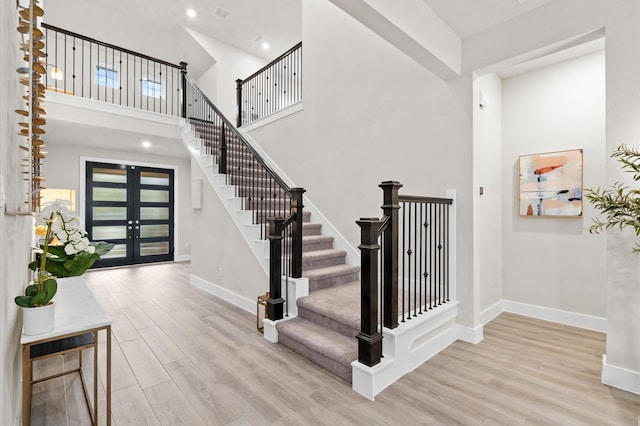
<path fill-rule="evenodd" d="M 175 65 L 43 23 L 48 91 L 168 115 L 181 112 Z"/>

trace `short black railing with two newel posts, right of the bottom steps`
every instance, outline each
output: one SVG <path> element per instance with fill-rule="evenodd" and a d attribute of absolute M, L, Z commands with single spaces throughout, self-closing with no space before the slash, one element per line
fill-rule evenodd
<path fill-rule="evenodd" d="M 447 303 L 453 295 L 449 260 L 453 200 L 399 195 L 402 184 L 395 181 L 379 186 L 383 217 L 357 221 L 361 232 L 358 361 L 369 367 L 382 357 L 382 327 L 396 328 Z"/>

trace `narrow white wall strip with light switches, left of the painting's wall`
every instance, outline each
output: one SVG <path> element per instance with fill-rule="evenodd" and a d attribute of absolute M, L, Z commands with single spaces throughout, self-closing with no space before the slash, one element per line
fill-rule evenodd
<path fill-rule="evenodd" d="M 484 105 L 480 106 L 480 93 Z M 476 313 L 502 300 L 502 80 L 491 73 L 473 85 L 473 278 Z M 483 195 L 480 195 L 480 187 Z M 480 322 L 491 319 L 480 318 Z"/>

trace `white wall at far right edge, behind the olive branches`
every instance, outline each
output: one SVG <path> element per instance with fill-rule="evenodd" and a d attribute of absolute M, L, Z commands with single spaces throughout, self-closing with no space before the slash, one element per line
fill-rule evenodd
<path fill-rule="evenodd" d="M 607 153 L 621 142 L 640 145 L 640 2 L 615 3 L 607 26 Z M 609 159 L 606 182 L 617 180 L 637 187 Z M 634 371 L 640 393 L 640 261 L 629 252 L 637 240 L 630 233 L 607 232 L 607 363 Z"/>

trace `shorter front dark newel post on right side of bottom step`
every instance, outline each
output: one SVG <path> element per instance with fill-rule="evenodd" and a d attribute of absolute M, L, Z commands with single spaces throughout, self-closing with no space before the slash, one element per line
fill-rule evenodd
<path fill-rule="evenodd" d="M 363 218 L 360 226 L 360 333 L 358 333 L 358 361 L 372 367 L 382 358 L 382 333 L 378 330 L 378 218 Z"/>

